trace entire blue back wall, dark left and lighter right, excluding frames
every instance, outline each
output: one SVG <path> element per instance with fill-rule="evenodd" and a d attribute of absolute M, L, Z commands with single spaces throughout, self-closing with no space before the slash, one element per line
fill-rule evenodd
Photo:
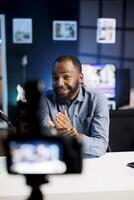
<path fill-rule="evenodd" d="M 134 2 L 131 0 L 1 0 L 6 15 L 9 117 L 14 116 L 18 83 L 23 81 L 22 57 L 28 56 L 26 79 L 43 79 L 51 87 L 51 63 L 61 54 L 73 54 L 82 63 L 114 63 L 130 68 L 134 88 Z M 117 19 L 115 44 L 96 43 L 98 17 Z M 33 43 L 13 44 L 12 19 L 33 19 Z M 52 20 L 77 20 L 78 41 L 52 40 Z"/>

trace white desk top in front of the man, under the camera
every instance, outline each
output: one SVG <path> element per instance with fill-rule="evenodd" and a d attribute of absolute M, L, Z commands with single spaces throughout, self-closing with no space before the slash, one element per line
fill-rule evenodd
<path fill-rule="evenodd" d="M 4 158 L 0 168 L 4 169 Z M 50 176 L 42 186 L 46 200 L 133 200 L 134 152 L 107 153 L 100 158 L 86 159 L 80 175 Z M 0 200 L 25 200 L 30 188 L 23 176 L 0 174 Z"/>

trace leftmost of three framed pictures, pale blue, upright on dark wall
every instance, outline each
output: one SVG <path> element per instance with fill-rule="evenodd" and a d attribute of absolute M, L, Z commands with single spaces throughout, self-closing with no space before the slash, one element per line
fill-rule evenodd
<path fill-rule="evenodd" d="M 32 43 L 32 19 L 14 18 L 13 19 L 13 43 L 31 44 Z"/>

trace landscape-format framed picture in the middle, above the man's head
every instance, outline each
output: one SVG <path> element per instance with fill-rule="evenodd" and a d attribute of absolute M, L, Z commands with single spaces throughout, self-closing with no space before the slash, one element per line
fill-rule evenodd
<path fill-rule="evenodd" d="M 77 21 L 54 20 L 53 40 L 76 41 Z"/>

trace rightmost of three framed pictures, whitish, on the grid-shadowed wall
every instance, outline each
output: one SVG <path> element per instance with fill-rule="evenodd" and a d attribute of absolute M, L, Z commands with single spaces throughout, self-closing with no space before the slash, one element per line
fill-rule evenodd
<path fill-rule="evenodd" d="M 97 20 L 97 43 L 115 43 L 116 19 L 99 18 Z"/>

